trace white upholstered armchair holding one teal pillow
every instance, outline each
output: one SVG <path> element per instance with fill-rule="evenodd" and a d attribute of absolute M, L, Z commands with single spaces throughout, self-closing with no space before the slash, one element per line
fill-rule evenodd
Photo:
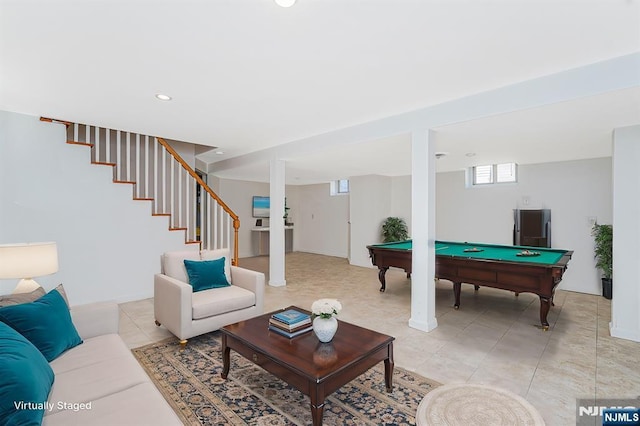
<path fill-rule="evenodd" d="M 231 286 L 193 292 L 184 260 L 225 258 Z M 185 345 L 187 339 L 260 315 L 264 310 L 264 274 L 231 266 L 228 249 L 167 252 L 161 273 L 154 276 L 153 310 L 163 325 Z"/>

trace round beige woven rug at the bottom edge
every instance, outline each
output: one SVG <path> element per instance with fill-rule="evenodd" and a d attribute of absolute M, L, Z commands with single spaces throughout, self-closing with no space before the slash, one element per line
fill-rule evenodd
<path fill-rule="evenodd" d="M 504 389 L 472 383 L 435 388 L 416 413 L 418 425 L 543 426 L 540 413 L 524 398 Z"/>

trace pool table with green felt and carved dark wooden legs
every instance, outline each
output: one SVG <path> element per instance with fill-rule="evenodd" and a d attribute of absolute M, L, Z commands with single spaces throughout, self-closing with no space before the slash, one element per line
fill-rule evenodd
<path fill-rule="evenodd" d="M 402 268 L 411 275 L 411 240 L 367 246 L 378 278 L 385 291 L 389 267 Z M 540 322 L 549 328 L 547 314 L 556 286 L 562 280 L 570 250 L 497 244 L 436 241 L 436 278 L 453 283 L 454 307 L 460 307 L 462 283 L 534 293 L 540 298 Z"/>

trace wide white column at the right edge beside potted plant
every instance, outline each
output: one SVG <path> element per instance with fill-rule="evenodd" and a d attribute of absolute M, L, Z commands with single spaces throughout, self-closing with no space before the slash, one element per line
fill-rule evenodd
<path fill-rule="evenodd" d="M 640 342 L 640 125 L 613 132 L 613 337 Z"/>

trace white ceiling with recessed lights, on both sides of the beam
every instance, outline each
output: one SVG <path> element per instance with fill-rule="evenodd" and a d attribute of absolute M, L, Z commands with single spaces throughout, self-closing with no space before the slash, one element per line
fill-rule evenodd
<path fill-rule="evenodd" d="M 254 153 L 216 174 L 267 181 L 278 146 L 636 52 L 635 0 L 0 0 L 0 109 L 216 147 L 214 169 Z M 638 87 L 441 126 L 437 170 L 609 156 L 632 124 Z M 292 154 L 287 182 L 410 154 L 408 134 Z"/>

